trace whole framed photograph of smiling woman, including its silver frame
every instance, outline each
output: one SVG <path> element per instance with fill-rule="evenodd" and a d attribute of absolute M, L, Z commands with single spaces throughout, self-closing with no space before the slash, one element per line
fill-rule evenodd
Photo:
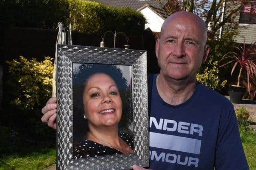
<path fill-rule="evenodd" d="M 149 166 L 146 51 L 56 45 L 57 169 Z"/>

